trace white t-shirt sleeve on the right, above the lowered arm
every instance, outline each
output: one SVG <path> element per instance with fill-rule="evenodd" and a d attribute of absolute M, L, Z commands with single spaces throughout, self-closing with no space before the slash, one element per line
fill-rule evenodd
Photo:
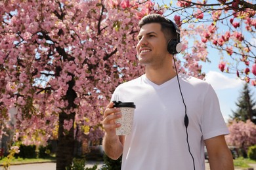
<path fill-rule="evenodd" d="M 219 106 L 217 94 L 209 84 L 203 101 L 202 133 L 203 139 L 209 139 L 229 133 Z"/>

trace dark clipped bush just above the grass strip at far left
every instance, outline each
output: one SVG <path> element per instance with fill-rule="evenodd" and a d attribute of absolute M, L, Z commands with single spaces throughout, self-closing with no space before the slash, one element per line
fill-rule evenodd
<path fill-rule="evenodd" d="M 35 145 L 24 145 L 20 144 L 20 152 L 18 154 L 14 154 L 15 158 L 37 158 L 37 154 L 35 152 Z"/>

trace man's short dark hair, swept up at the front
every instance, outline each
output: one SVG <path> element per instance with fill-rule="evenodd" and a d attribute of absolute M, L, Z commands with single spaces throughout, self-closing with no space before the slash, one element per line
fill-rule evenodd
<path fill-rule="evenodd" d="M 147 16 L 144 16 L 140 20 L 139 27 L 141 28 L 143 25 L 151 23 L 158 23 L 161 25 L 161 31 L 163 32 L 163 35 L 165 36 L 167 42 L 170 39 L 177 39 L 177 41 L 180 41 L 179 35 L 176 32 L 176 30 L 179 29 L 179 27 L 177 27 L 173 22 L 171 22 L 171 20 L 168 20 L 160 14 L 149 14 Z"/>

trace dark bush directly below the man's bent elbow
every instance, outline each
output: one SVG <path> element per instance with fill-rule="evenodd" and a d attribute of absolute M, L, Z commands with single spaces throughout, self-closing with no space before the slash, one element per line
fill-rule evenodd
<path fill-rule="evenodd" d="M 121 160 L 122 157 L 117 160 L 112 160 L 106 154 L 104 154 L 104 165 L 102 166 L 102 170 L 119 170 L 121 169 Z"/>

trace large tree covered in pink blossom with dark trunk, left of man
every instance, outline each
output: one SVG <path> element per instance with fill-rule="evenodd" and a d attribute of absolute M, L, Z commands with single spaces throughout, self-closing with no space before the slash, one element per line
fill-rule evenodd
<path fill-rule="evenodd" d="M 142 73 L 135 50 L 141 9 L 161 10 L 151 1 L 0 5 L 1 134 L 15 107 L 15 139 L 58 139 L 56 169 L 65 169 L 75 139 L 102 137 L 102 112 L 114 88 Z"/>

